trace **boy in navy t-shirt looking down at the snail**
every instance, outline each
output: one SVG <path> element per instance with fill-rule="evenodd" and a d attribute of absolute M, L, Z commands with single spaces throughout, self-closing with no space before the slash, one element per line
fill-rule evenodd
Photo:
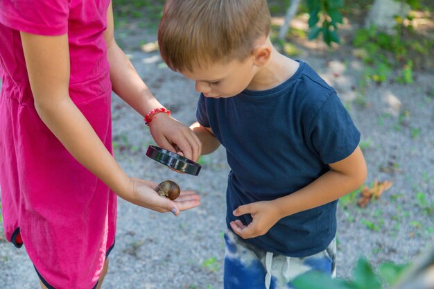
<path fill-rule="evenodd" d="M 202 155 L 222 144 L 225 288 L 291 288 L 334 274 L 336 204 L 365 182 L 360 133 L 336 91 L 272 46 L 266 0 L 171 0 L 162 58 L 196 82 Z"/>

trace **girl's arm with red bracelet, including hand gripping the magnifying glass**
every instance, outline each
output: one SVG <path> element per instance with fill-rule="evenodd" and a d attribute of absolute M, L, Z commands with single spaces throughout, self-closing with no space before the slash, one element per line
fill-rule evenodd
<path fill-rule="evenodd" d="M 113 91 L 125 100 L 134 110 L 145 117 L 150 110 L 163 107 L 141 80 L 125 53 L 114 40 L 112 3 L 107 10 L 107 30 L 104 38 L 107 44 L 107 58 L 110 62 L 110 80 Z M 155 142 L 173 152 L 175 145 L 184 157 L 196 161 L 200 156 L 201 144 L 196 135 L 185 125 L 167 114 L 156 114 L 149 125 Z"/>

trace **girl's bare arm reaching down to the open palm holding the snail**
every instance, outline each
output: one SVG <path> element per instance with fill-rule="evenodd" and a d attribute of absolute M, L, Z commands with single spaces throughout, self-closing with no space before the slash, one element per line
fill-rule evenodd
<path fill-rule="evenodd" d="M 125 174 L 105 148 L 85 116 L 69 97 L 69 44 L 67 35 L 42 36 L 21 32 L 35 108 L 42 121 L 71 155 L 121 198 L 155 211 L 196 207 L 199 198 L 184 192 L 181 202 L 161 198 L 153 183 Z M 55 182 L 55 180 L 53 180 Z"/>

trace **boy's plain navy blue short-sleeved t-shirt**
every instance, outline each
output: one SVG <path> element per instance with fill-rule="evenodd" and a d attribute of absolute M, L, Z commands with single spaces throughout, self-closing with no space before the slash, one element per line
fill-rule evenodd
<path fill-rule="evenodd" d="M 201 95 L 198 122 L 226 148 L 227 227 L 243 204 L 275 200 L 311 184 L 328 164 L 351 155 L 360 141 L 336 91 L 306 62 L 275 88 L 245 90 L 231 98 Z M 267 234 L 245 241 L 293 257 L 326 249 L 336 235 L 337 201 L 282 218 Z"/>

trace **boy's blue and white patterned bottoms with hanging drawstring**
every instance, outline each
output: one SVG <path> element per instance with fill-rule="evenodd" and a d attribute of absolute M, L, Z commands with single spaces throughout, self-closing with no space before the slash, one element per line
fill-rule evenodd
<path fill-rule="evenodd" d="M 336 238 L 324 251 L 293 258 L 257 249 L 232 231 L 225 233 L 225 289 L 293 289 L 291 281 L 310 270 L 336 276 Z"/>

